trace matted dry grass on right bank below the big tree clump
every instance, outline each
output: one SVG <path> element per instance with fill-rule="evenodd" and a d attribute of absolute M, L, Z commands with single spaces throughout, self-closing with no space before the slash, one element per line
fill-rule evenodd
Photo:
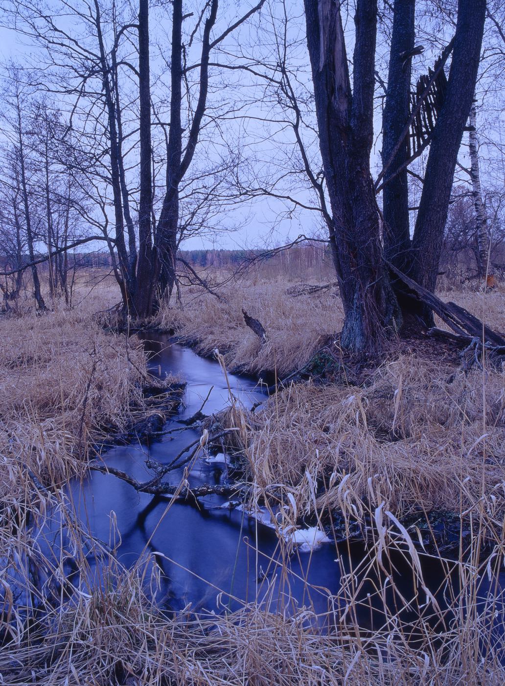
<path fill-rule="evenodd" d="M 468 510 L 484 490 L 505 511 L 505 374 L 456 372 L 447 383 L 453 372 L 402 356 L 365 388 L 309 382 L 275 394 L 247 418 L 260 493 L 284 484 L 308 512 L 311 484 L 324 481 L 319 501 L 340 507 L 345 483 L 356 503 L 384 501 L 403 517 Z"/>

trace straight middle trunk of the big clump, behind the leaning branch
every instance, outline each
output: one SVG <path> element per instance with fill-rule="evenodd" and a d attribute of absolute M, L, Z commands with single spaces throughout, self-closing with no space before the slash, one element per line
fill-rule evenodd
<path fill-rule="evenodd" d="M 393 176 L 408 159 L 408 139 L 405 137 L 398 152 L 390 161 L 410 115 L 412 67 L 411 59 L 406 58 L 406 55 L 410 54 L 414 47 L 414 27 L 415 0 L 395 0 L 388 86 L 382 113 L 382 165 L 385 167 L 390 163 L 388 176 Z M 410 250 L 406 168 L 384 185 L 382 202 L 384 255 L 404 272 Z"/>

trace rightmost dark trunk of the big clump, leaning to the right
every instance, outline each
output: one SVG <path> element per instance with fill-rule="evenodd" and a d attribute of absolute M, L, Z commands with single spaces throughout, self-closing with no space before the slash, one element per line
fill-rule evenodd
<path fill-rule="evenodd" d="M 434 292 L 454 169 L 475 89 L 486 16 L 485 0 L 458 1 L 452 64 L 433 132 L 412 239 L 412 278 Z M 421 313 L 432 324 L 428 309 Z"/>

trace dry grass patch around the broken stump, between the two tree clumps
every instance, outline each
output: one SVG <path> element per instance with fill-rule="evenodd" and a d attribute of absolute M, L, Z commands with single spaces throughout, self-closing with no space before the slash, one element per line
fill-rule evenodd
<path fill-rule="evenodd" d="M 294 298 L 290 283 L 234 284 L 221 289 L 222 301 L 186 289 L 182 308 L 165 309 L 160 323 L 175 328 L 198 353 L 217 348 L 229 368 L 247 372 L 275 370 L 280 377 L 304 366 L 341 329 L 343 311 L 335 292 Z M 267 331 L 262 342 L 244 322 L 242 309 Z"/>

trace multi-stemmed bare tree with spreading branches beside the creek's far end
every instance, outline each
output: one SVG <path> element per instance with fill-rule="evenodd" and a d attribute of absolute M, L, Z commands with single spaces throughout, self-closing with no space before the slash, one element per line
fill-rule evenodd
<path fill-rule="evenodd" d="M 113 253 L 125 312 L 133 316 L 149 316 L 173 290 L 177 249 L 187 223 L 181 216 L 182 196 L 190 195 L 187 185 L 196 171 L 201 130 L 219 119 L 214 107 L 208 115 L 211 54 L 263 4 L 260 0 L 227 23 L 226 15 L 219 15 L 218 0 L 195 3 L 195 12 L 186 13 L 182 0 L 174 0 L 169 14 L 171 57 L 164 58 L 164 45 L 156 61 L 158 70 L 164 62 L 169 74 L 167 123 L 167 97 L 160 97 L 164 73 L 156 75 L 156 95 L 151 88 L 150 51 L 156 40 L 149 28 L 147 0 L 136 8 L 131 3 L 120 8 L 114 0 L 62 2 L 61 17 L 31 0 L 4 3 L 7 21 L 46 47 L 46 87 L 62 93 L 67 102 L 74 100 L 71 124 L 80 128 L 76 145 L 87 150 L 88 176 L 103 224 L 113 225 L 113 234 L 104 230 L 104 238 Z M 161 140 L 153 141 L 153 130 L 161 133 Z M 160 164 L 162 145 L 166 147 Z M 219 161 L 216 164 L 219 169 Z M 201 169 L 193 178 L 195 184 L 202 182 Z M 108 189 L 113 222 L 108 218 Z"/>

